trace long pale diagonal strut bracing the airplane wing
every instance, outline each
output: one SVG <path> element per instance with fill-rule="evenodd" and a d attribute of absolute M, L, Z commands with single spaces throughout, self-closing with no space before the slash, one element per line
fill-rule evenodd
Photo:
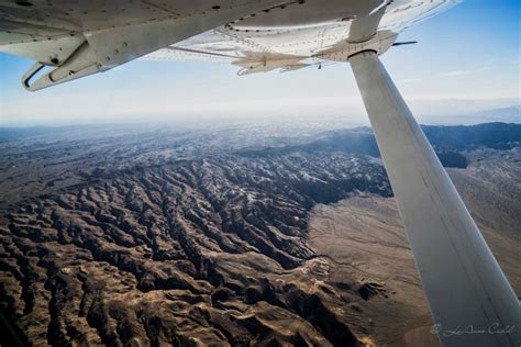
<path fill-rule="evenodd" d="M 377 54 L 350 63 L 442 345 L 521 346 L 519 299 Z"/>

